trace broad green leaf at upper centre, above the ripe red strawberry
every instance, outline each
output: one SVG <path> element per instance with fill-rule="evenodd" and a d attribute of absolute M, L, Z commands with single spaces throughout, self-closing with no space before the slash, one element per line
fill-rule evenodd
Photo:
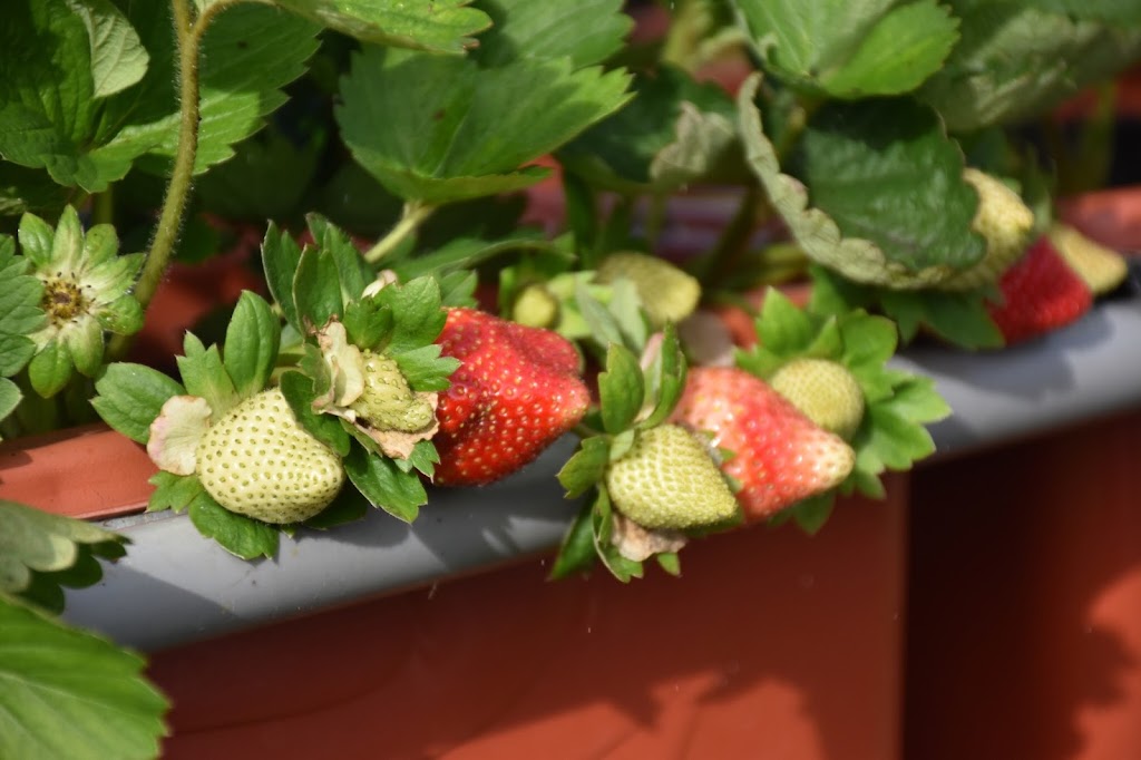
<path fill-rule="evenodd" d="M 337 120 L 354 157 L 406 201 L 438 205 L 521 189 L 548 176 L 519 167 L 626 100 L 626 75 L 521 58 L 480 68 L 366 48 L 341 82 Z"/>

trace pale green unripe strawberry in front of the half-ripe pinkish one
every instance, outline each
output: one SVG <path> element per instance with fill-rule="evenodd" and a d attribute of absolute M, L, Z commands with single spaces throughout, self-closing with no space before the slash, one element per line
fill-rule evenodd
<path fill-rule="evenodd" d="M 652 529 L 714 525 L 738 509 L 709 451 L 679 425 L 639 431 L 607 469 L 606 487 L 615 509 Z"/>

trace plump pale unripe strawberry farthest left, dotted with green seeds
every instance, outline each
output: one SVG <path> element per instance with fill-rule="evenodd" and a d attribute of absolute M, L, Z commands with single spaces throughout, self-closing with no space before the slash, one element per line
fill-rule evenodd
<path fill-rule="evenodd" d="M 333 501 L 340 458 L 306 431 L 277 388 L 246 398 L 199 442 L 196 474 L 215 501 L 265 523 L 300 523 Z"/>

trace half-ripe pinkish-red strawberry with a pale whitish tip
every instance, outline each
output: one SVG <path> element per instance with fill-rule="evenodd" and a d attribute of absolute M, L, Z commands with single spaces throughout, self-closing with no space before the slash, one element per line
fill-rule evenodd
<path fill-rule="evenodd" d="M 690 369 L 671 421 L 711 432 L 713 445 L 730 452 L 721 469 L 741 484 L 748 519 L 835 487 L 856 462 L 843 438 L 739 367 Z"/>

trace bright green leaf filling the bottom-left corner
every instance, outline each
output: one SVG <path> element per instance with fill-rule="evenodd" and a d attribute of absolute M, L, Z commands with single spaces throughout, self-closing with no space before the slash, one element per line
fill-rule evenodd
<path fill-rule="evenodd" d="M 169 703 L 144 660 L 0 596 L 0 757 L 157 757 Z"/>

